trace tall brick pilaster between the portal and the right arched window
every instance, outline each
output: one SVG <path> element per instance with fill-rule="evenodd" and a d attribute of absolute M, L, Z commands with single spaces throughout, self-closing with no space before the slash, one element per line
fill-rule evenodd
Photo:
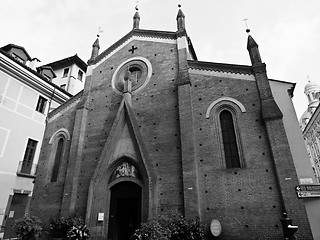
<path fill-rule="evenodd" d="M 184 214 L 186 218 L 200 216 L 198 170 L 195 160 L 192 95 L 187 62 L 187 37 L 178 32 L 178 104 L 183 176 Z"/>

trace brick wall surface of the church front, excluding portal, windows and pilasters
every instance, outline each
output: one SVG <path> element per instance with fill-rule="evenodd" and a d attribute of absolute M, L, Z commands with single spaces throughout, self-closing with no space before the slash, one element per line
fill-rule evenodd
<path fill-rule="evenodd" d="M 132 45 L 138 48 L 134 54 L 128 52 Z M 176 45 L 133 41 L 93 70 L 91 85 L 86 84 L 91 89 L 82 99 L 87 101 L 86 108 L 74 107 L 47 125 L 31 214 L 47 219 L 58 216 L 63 209 L 62 214 L 73 210 L 85 217 L 91 177 L 122 100 L 112 90 L 111 79 L 119 64 L 133 56 L 147 58 L 153 68 L 148 85 L 132 96 L 132 107 L 156 176 L 154 189 L 150 189 L 156 196 L 149 213 L 184 213 Z M 218 219 L 223 228 L 220 239 L 282 239 L 281 201 L 256 83 L 199 74 L 191 74 L 190 80 L 201 220 L 210 223 L 211 219 Z M 205 117 L 208 106 L 223 96 L 237 99 L 246 108 L 237 119 L 245 163 L 242 169 L 223 167 L 214 118 Z M 79 140 L 83 146 L 79 144 L 82 147 L 78 153 L 70 150 L 70 158 L 64 159 L 61 173 L 67 180 L 48 183 L 48 141 L 60 128 L 70 131 L 69 145 Z M 69 207 L 72 204 L 74 208 Z"/>

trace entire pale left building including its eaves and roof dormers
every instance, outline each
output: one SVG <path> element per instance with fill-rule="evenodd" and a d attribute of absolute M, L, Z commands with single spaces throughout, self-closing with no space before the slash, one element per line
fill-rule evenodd
<path fill-rule="evenodd" d="M 73 95 L 52 83 L 52 68 L 36 70 L 21 46 L 0 48 L 0 239 L 29 210 L 46 117 Z M 3 236 L 4 235 L 4 236 Z"/>

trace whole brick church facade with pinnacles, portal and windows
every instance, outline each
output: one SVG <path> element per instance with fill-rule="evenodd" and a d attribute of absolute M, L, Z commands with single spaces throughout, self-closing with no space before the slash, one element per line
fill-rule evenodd
<path fill-rule="evenodd" d="M 84 90 L 49 115 L 30 214 L 76 213 L 90 239 L 128 239 L 147 219 L 184 215 L 219 220 L 218 239 L 250 240 L 283 239 L 285 212 L 299 239 L 313 239 L 253 38 L 250 66 L 202 62 L 181 9 L 176 32 L 139 20 L 100 54 L 97 39 Z"/>

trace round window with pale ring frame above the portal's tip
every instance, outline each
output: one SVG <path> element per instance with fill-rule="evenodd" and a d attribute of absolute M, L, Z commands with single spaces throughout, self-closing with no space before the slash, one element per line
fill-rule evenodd
<path fill-rule="evenodd" d="M 152 75 L 151 63 L 144 57 L 133 57 L 121 63 L 112 76 L 112 89 L 122 94 L 126 81 L 131 82 L 131 92 L 143 89 Z"/>

